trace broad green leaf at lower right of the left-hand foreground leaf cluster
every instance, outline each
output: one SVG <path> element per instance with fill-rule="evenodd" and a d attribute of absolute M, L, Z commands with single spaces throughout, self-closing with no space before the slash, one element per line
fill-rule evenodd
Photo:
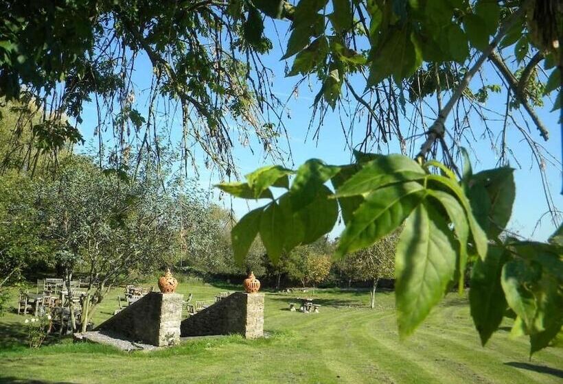
<path fill-rule="evenodd" d="M 295 213 L 303 226 L 302 244 L 316 241 L 334 227 L 338 218 L 338 204 L 335 199 L 330 198 L 331 196 L 332 191 L 321 185 L 314 200 Z"/>

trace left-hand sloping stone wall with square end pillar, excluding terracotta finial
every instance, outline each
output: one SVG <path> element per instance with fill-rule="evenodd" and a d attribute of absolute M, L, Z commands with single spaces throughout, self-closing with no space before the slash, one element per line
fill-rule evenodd
<path fill-rule="evenodd" d="M 151 292 L 95 328 L 133 341 L 170 346 L 180 341 L 183 295 Z"/>

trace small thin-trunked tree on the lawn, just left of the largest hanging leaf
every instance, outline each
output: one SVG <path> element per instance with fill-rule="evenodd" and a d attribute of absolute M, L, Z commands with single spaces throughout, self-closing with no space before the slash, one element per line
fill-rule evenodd
<path fill-rule="evenodd" d="M 369 307 L 376 307 L 376 290 L 380 278 L 395 277 L 395 248 L 399 239 L 397 232 L 382 237 L 374 245 L 354 252 L 341 261 L 349 276 L 356 280 L 371 281 Z"/>

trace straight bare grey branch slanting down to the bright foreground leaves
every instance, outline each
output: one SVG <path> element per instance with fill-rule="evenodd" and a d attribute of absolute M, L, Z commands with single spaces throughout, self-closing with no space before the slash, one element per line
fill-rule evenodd
<path fill-rule="evenodd" d="M 483 63 L 485 62 L 485 60 L 487 60 L 487 57 L 494 51 L 498 43 L 500 43 L 501 39 L 507 33 L 509 27 L 512 27 L 518 17 L 520 17 L 521 13 L 522 8 L 520 8 L 517 12 L 514 12 L 507 18 L 505 23 L 503 23 L 503 25 L 501 26 L 501 29 L 498 31 L 498 34 L 496 34 L 496 36 L 494 36 L 494 38 L 492 39 L 489 46 L 483 51 L 481 56 L 479 56 L 479 58 L 473 64 L 473 67 L 471 67 L 469 71 L 466 72 L 466 75 L 463 76 L 463 80 L 461 80 L 461 82 L 459 83 L 459 86 L 454 91 L 452 97 L 450 97 L 444 108 L 441 108 L 441 110 L 439 110 L 437 119 L 432 125 L 430 125 L 430 128 L 428 128 L 428 137 L 426 138 L 426 141 L 422 143 L 420 152 L 415 157 L 417 160 L 424 160 L 424 158 L 426 158 L 426 154 L 430 152 L 430 149 L 432 148 L 432 145 L 435 143 L 435 141 L 440 137 L 444 137 L 444 133 L 446 132 L 446 127 L 444 124 L 446 123 L 446 119 L 448 118 L 448 115 L 450 115 L 452 108 L 461 98 L 461 95 L 463 95 L 463 91 L 465 91 L 468 87 L 472 77 L 475 75 L 475 73 L 477 73 L 477 71 L 479 71 L 479 69 L 481 69 L 481 66 L 483 66 Z"/>

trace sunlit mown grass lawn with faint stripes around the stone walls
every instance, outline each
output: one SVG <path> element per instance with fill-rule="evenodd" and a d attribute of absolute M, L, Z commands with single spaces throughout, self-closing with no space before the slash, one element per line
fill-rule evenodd
<path fill-rule="evenodd" d="M 180 293 L 211 300 L 227 289 L 183 284 Z M 100 305 L 100 324 L 116 307 Z M 310 294 L 310 293 L 309 293 Z M 124 353 L 95 344 L 50 342 L 23 346 L 23 316 L 0 317 L 0 383 L 562 383 L 563 349 L 528 359 L 527 339 L 509 329 L 481 347 L 466 298 L 452 293 L 415 335 L 400 341 L 391 292 L 318 290 L 321 313 L 288 311 L 299 294 L 266 292 L 265 330 L 271 337 L 238 336 L 186 342 L 157 352 Z M 503 324 L 507 325 L 507 324 Z"/>

